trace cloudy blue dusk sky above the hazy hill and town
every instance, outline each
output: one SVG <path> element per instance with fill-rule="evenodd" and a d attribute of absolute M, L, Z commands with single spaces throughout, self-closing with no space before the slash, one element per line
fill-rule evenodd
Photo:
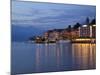
<path fill-rule="evenodd" d="M 95 6 L 12 1 L 12 25 L 63 28 L 95 14 Z"/>

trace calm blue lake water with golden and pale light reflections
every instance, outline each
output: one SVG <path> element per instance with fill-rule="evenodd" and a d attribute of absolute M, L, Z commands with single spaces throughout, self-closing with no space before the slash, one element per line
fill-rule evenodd
<path fill-rule="evenodd" d="M 12 43 L 11 73 L 95 69 L 95 44 Z"/>

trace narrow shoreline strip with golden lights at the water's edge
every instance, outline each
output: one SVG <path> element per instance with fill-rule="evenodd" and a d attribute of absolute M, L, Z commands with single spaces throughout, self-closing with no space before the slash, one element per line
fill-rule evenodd
<path fill-rule="evenodd" d="M 30 41 L 33 43 L 33 41 Z M 96 39 L 95 38 L 78 38 L 78 39 L 71 39 L 71 40 L 58 40 L 58 41 L 34 41 L 34 43 L 38 44 L 52 44 L 52 43 L 90 43 L 90 44 L 96 44 Z"/>

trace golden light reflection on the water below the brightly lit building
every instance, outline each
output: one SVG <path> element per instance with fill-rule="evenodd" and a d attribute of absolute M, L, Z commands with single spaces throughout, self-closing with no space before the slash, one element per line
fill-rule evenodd
<path fill-rule="evenodd" d="M 95 47 L 95 44 L 72 44 L 73 64 L 79 69 L 95 68 Z"/>

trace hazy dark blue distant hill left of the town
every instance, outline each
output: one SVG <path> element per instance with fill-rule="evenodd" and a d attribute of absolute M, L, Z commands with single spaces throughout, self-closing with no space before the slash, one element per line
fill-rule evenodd
<path fill-rule="evenodd" d="M 27 41 L 30 37 L 36 36 L 36 35 L 42 35 L 45 30 L 43 28 L 37 28 L 37 27 L 23 27 L 23 26 L 17 26 L 12 25 L 12 31 L 11 31 L 11 40 L 12 41 Z"/>

